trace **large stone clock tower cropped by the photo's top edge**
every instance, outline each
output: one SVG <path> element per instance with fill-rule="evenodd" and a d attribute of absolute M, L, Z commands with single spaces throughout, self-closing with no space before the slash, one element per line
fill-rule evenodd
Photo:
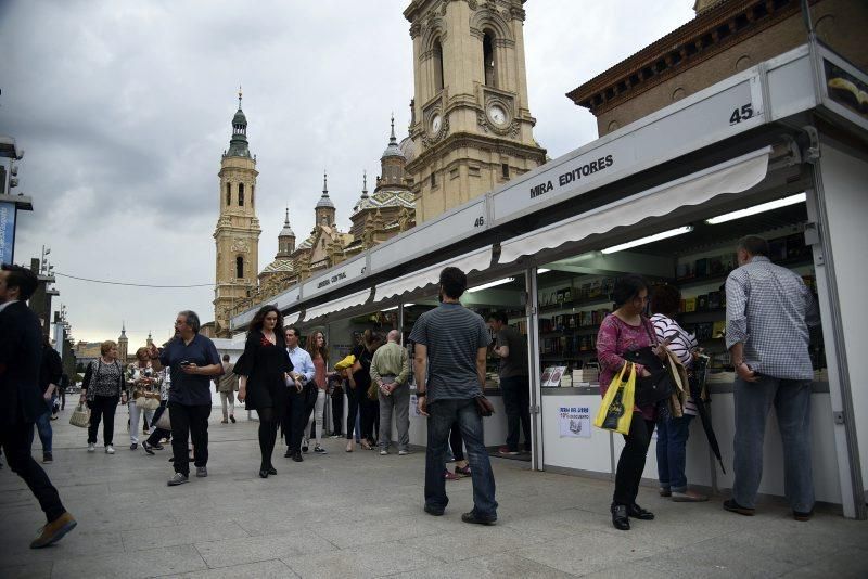
<path fill-rule="evenodd" d="M 407 164 L 417 222 L 546 160 L 533 137 L 524 66 L 525 0 L 413 0 L 414 98 Z"/>

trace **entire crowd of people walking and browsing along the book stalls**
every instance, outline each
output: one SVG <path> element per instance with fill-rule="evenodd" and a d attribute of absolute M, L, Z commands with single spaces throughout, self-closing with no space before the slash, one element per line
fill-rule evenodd
<path fill-rule="evenodd" d="M 801 278 L 773 265 L 768 254 L 764 240 L 741 240 L 740 267 L 726 282 L 726 342 L 738 377 L 735 485 L 724 509 L 754 514 L 762 476 L 762 433 L 774 406 L 783 440 L 788 499 L 794 517 L 807 520 L 814 509 L 806 427 L 813 376 L 807 343 L 808 326 L 818 323 L 817 306 Z M 54 350 L 41 338 L 38 321 L 25 304 L 36 283 L 24 268 L 3 266 L 0 272 L 0 388 L 7 401 L 0 407 L 0 446 L 12 471 L 24 478 L 46 513 L 47 524 L 31 543 L 40 548 L 60 540 L 76 522 L 30 456 L 36 427 L 43 462 L 52 461 L 49 421 L 63 382 L 56 352 L 51 353 Z M 189 481 L 191 461 L 195 476 L 207 477 L 214 387 L 221 400 L 222 423 L 235 422 L 235 396 L 246 410 L 256 411 L 261 478 L 278 474 L 272 460 L 278 433 L 285 443 L 284 456 L 292 461 L 304 461 L 311 439 L 315 454 L 327 453 L 323 424 L 329 396 L 333 401 L 333 436 L 346 437 L 346 452 L 355 450 L 358 439 L 362 449 L 379 449 L 381 455 L 387 455 L 394 442 L 397 454 L 406 455 L 410 452 L 412 377 L 418 412 L 427 419 L 424 512 L 443 515 L 448 504 L 446 481 L 469 476 L 474 507 L 462 515 L 462 520 L 492 525 L 497 520 L 498 503 L 483 437 L 486 359 L 494 355 L 500 360 L 508 422 L 500 453 L 531 450 L 526 342 L 502 313 L 489 316 L 486 325 L 486 320 L 464 308 L 460 297 L 465 290 L 467 276 L 461 270 L 445 268 L 441 272 L 439 306 L 420 316 L 409 335 L 412 357 L 398 331 L 382 336 L 368 330 L 347 359 L 332 364 L 326 335 L 314 332 L 303 347 L 299 330 L 284 327 L 275 306 L 257 311 L 243 355 L 235 363 L 230 363 L 228 356 L 220 358 L 214 343 L 200 333 L 199 317 L 190 310 L 178 313 L 173 339 L 163 348 L 140 348 L 136 361 L 127 368 L 118 360 L 117 344 L 105 342 L 101 356 L 86 369 L 79 400 L 90 411 L 87 451 L 97 450 L 102 424 L 103 450 L 115 453 L 115 412 L 125 404 L 130 450 L 138 450 L 142 419 L 143 433 L 149 436 L 141 447 L 148 455 L 170 441 L 175 473 L 168 486 Z M 597 340 L 602 395 L 626 364 L 631 364 L 641 387 L 656 379 L 658 360 L 677 359 L 689 372 L 699 356 L 695 338 L 675 321 L 680 301 L 677 288 L 654 287 L 653 295 L 651 290 L 639 275 L 625 275 L 614 285 L 615 309 L 602 321 Z M 348 403 L 345 422 L 344 395 Z M 709 499 L 691 491 L 685 476 L 685 448 L 698 401 L 688 397 L 676 412 L 668 403 L 640 401 L 629 409 L 633 420 L 617 460 L 611 503 L 612 524 L 617 529 L 628 530 L 631 518 L 654 518 L 639 506 L 637 498 L 655 428 L 660 494 L 678 502 Z M 393 419 L 397 429 L 394 441 Z M 455 473 L 446 468 L 449 451 L 456 460 Z"/>

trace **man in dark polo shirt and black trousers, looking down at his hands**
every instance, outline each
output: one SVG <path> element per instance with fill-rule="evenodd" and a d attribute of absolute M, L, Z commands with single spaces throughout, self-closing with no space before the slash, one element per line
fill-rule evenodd
<path fill-rule="evenodd" d="M 208 476 L 208 416 L 210 415 L 210 378 L 224 372 L 220 356 L 214 343 L 199 333 L 199 316 L 191 310 L 178 313 L 175 320 L 177 334 L 166 347 L 157 350 L 152 345 L 151 359 L 171 373 L 169 390 L 169 422 L 171 423 L 171 453 L 175 476 L 168 486 L 183 485 L 190 480 L 190 456 L 187 440 L 193 442 L 193 463 L 197 477 Z"/>

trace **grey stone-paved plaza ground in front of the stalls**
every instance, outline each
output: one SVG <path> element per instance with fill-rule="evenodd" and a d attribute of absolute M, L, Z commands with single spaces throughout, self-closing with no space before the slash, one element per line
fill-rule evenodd
<path fill-rule="evenodd" d="M 615 530 L 609 481 L 533 473 L 494 459 L 499 520 L 461 523 L 469 479 L 449 483 L 446 515 L 422 512 L 424 453 L 344 452 L 256 476 L 256 424 L 210 417 L 208 478 L 166 487 L 168 450 L 128 450 L 126 412 L 115 455 L 85 451 L 86 433 L 55 421 L 46 465 L 78 527 L 58 545 L 28 549 L 42 513 L 20 478 L 0 471 L 0 577 L 866 577 L 868 523 L 819 512 L 794 522 L 781 505 L 755 517 L 720 498 L 677 504 L 643 488 L 654 522 Z M 241 413 L 243 414 L 243 413 Z M 35 455 L 41 455 L 38 439 Z"/>

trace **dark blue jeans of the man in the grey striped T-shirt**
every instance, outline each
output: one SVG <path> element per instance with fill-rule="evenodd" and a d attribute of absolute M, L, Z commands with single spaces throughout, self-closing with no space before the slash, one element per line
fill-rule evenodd
<path fill-rule="evenodd" d="M 427 448 L 425 449 L 425 505 L 435 510 L 446 509 L 446 447 L 449 429 L 458 422 L 464 445 L 468 448 L 471 479 L 473 480 L 473 510 L 478 516 L 497 516 L 495 500 L 495 475 L 485 450 L 482 416 L 476 412 L 472 398 L 464 400 L 436 400 L 427 412 Z"/>

